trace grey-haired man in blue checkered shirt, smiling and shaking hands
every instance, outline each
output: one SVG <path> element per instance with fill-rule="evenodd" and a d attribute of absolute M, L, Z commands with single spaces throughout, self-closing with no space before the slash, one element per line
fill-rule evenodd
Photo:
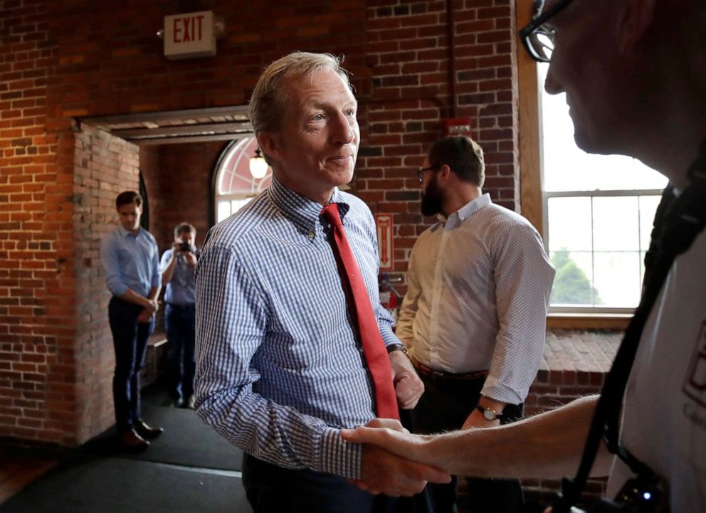
<path fill-rule="evenodd" d="M 250 109 L 272 186 L 211 229 L 196 266 L 197 413 L 246 453 L 255 513 L 372 512 L 373 495 L 348 479 L 410 495 L 447 476 L 340 436 L 376 410 L 327 203 L 338 205 L 367 287 L 398 405 L 413 408 L 423 392 L 379 301 L 372 213 L 338 189 L 357 158 L 357 102 L 336 58 L 293 53 L 265 69 Z"/>

